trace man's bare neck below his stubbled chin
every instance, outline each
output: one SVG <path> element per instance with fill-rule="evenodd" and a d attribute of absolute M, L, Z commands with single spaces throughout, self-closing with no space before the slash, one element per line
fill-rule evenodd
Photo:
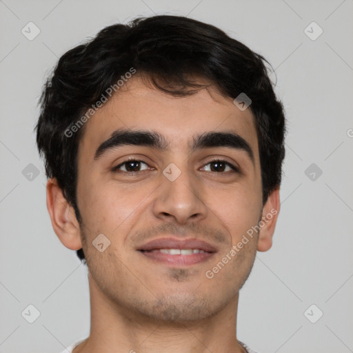
<path fill-rule="evenodd" d="M 239 294 L 221 311 L 200 321 L 156 321 L 113 303 L 88 274 L 90 336 L 73 353 L 243 353 L 236 339 Z"/>

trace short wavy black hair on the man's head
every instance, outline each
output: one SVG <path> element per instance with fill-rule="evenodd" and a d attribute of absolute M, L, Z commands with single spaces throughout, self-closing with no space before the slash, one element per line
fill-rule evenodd
<path fill-rule="evenodd" d="M 57 179 L 81 224 L 77 150 L 85 126 L 72 137 L 65 131 L 133 67 L 159 90 L 176 96 L 201 89 L 192 79 L 196 75 L 216 84 L 225 97 L 234 99 L 242 92 L 250 97 L 265 204 L 281 184 L 285 157 L 283 105 L 276 99 L 266 64 L 260 54 L 219 28 L 187 17 L 161 15 L 104 28 L 65 52 L 44 85 L 35 130 L 47 177 Z M 85 261 L 82 249 L 77 255 Z"/>

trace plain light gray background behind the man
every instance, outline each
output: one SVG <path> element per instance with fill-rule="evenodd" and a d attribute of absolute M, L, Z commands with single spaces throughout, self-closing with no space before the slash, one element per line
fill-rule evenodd
<path fill-rule="evenodd" d="M 262 353 L 353 352 L 352 0 L 0 0 L 0 352 L 58 353 L 88 336 L 87 272 L 46 209 L 37 101 L 66 50 L 154 13 L 219 26 L 276 70 L 289 121 L 281 213 L 273 248 L 258 254 L 241 290 L 238 338 Z M 21 33 L 30 21 L 41 31 L 32 41 Z M 312 21 L 323 30 L 315 40 L 305 34 Z M 34 323 L 21 315 L 30 304 Z"/>

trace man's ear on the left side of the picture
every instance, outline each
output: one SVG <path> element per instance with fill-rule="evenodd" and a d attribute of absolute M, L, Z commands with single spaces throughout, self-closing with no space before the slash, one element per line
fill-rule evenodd
<path fill-rule="evenodd" d="M 74 208 L 63 196 L 56 179 L 47 182 L 47 208 L 52 221 L 52 228 L 66 248 L 79 250 L 82 248 L 79 222 Z"/>

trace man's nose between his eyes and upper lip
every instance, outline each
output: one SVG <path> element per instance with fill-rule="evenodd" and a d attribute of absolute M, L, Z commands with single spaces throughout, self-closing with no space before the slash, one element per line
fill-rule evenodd
<path fill-rule="evenodd" d="M 201 182 L 192 172 L 175 169 L 174 165 L 167 173 L 161 174 L 161 185 L 157 188 L 154 199 L 154 216 L 163 221 L 176 221 L 180 224 L 205 219 L 208 208 L 204 202 L 205 193 Z M 170 175 L 176 172 L 181 174 L 174 179 L 168 177 L 168 171 Z"/>

